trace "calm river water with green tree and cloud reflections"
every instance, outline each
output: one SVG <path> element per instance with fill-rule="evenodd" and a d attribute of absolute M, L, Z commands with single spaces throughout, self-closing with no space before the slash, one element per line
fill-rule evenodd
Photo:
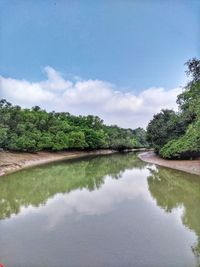
<path fill-rule="evenodd" d="M 200 177 L 135 153 L 0 178 L 5 267 L 200 266 Z"/>

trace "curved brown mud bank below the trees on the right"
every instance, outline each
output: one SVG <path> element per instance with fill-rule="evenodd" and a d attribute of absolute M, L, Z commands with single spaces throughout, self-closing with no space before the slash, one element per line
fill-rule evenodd
<path fill-rule="evenodd" d="M 157 164 L 196 175 L 200 175 L 200 159 L 197 160 L 165 160 L 158 157 L 153 151 L 140 153 L 138 157 L 148 163 Z"/>

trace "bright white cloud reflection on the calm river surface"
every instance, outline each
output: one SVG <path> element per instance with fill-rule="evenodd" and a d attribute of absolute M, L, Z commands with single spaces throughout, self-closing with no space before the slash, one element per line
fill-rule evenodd
<path fill-rule="evenodd" d="M 148 169 L 126 170 L 122 178 L 116 180 L 106 176 L 99 189 L 76 189 L 65 194 L 56 194 L 47 203 L 38 208 L 23 207 L 17 217 L 30 213 L 39 213 L 47 217 L 47 228 L 61 223 L 67 215 L 101 215 L 112 211 L 117 204 L 125 200 L 141 197 L 145 201 L 153 201 L 148 191 L 146 177 Z"/>

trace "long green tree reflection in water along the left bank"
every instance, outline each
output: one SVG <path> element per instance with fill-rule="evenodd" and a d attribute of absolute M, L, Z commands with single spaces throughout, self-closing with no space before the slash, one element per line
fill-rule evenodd
<path fill-rule="evenodd" d="M 127 169 L 145 167 L 134 153 L 63 161 L 22 170 L 0 179 L 0 219 L 29 205 L 39 206 L 57 193 L 87 188 L 92 191 L 107 175 L 118 179 Z"/>

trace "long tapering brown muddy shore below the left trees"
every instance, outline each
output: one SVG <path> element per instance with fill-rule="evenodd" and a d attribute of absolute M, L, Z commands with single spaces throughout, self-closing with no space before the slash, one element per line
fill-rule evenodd
<path fill-rule="evenodd" d="M 11 153 L 0 152 L 0 176 L 24 168 L 41 165 L 63 159 L 73 159 L 90 155 L 107 155 L 115 153 L 113 150 L 97 150 L 91 152 L 38 152 L 38 153 Z"/>

